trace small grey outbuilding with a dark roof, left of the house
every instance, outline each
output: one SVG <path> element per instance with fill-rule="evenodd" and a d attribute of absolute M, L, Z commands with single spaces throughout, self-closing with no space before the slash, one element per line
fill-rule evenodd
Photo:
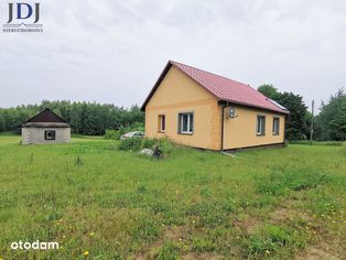
<path fill-rule="evenodd" d="M 22 144 L 71 142 L 71 124 L 46 108 L 22 124 Z"/>

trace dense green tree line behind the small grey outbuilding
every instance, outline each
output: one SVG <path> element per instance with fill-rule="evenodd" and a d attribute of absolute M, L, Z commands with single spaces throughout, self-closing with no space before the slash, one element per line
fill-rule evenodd
<path fill-rule="evenodd" d="M 144 113 L 134 105 L 130 109 L 97 102 L 48 101 L 40 105 L 0 108 L 0 132 L 18 131 L 23 122 L 45 108 L 51 108 L 71 123 L 73 133 L 105 134 L 106 129 L 132 128 L 144 124 Z"/>

